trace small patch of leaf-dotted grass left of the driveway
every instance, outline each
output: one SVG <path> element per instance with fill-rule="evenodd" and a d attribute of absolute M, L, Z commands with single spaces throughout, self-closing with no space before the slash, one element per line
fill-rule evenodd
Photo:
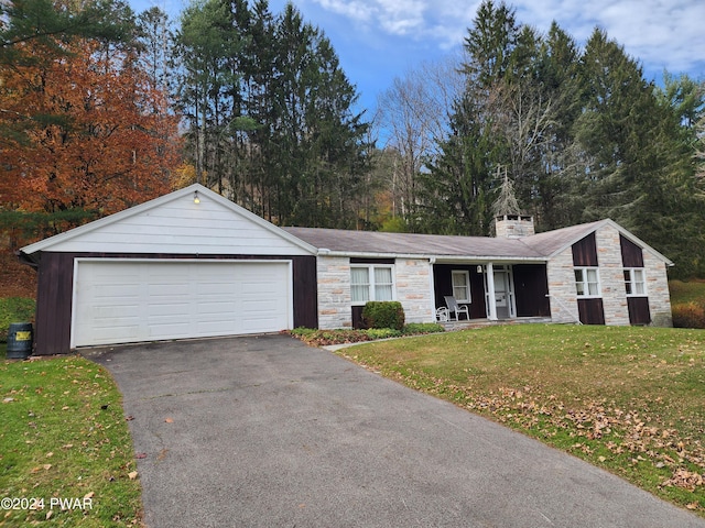
<path fill-rule="evenodd" d="M 1 361 L 0 397 L 0 526 L 141 525 L 132 441 L 107 371 L 76 355 Z"/>

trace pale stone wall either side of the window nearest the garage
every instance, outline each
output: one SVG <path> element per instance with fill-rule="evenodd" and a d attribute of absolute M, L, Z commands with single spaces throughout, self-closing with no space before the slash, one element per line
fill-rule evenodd
<path fill-rule="evenodd" d="M 351 328 L 350 258 L 318 256 L 318 327 Z M 434 320 L 431 297 L 431 264 L 427 261 L 397 258 L 394 265 L 397 300 L 404 308 L 406 322 Z"/>

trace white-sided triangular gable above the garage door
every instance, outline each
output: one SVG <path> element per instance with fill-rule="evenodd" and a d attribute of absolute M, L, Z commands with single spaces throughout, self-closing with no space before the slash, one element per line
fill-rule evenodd
<path fill-rule="evenodd" d="M 199 184 L 20 250 L 31 260 L 36 260 L 32 255 L 42 251 L 200 255 L 316 253 L 315 248 L 303 240 Z"/>

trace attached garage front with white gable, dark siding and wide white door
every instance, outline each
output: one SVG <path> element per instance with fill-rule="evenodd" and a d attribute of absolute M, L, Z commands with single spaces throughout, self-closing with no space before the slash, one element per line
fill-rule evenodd
<path fill-rule="evenodd" d="M 23 248 L 35 354 L 317 326 L 316 250 L 200 185 Z"/>

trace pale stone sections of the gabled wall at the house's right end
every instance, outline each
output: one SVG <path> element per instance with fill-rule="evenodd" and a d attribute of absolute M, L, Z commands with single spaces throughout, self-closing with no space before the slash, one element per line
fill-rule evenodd
<path fill-rule="evenodd" d="M 606 226 L 596 231 L 595 242 L 605 323 L 629 324 L 619 231 Z M 652 324 L 670 327 L 673 322 L 665 264 L 649 251 L 643 252 L 643 261 Z M 578 310 L 572 248 L 551 258 L 546 273 L 551 293 L 551 319 L 553 322 L 576 322 Z"/>

